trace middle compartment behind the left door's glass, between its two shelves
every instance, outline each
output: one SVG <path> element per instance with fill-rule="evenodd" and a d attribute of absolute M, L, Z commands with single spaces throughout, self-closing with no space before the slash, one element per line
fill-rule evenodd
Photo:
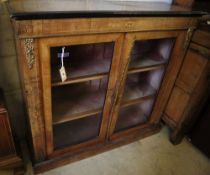
<path fill-rule="evenodd" d="M 103 110 L 107 79 L 54 87 L 52 91 L 53 124 L 59 124 Z"/>

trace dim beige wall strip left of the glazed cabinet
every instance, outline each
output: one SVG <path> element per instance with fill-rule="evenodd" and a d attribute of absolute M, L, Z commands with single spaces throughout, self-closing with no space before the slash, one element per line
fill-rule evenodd
<path fill-rule="evenodd" d="M 0 88 L 3 89 L 13 135 L 22 139 L 26 133 L 13 30 L 6 6 L 0 1 Z"/>

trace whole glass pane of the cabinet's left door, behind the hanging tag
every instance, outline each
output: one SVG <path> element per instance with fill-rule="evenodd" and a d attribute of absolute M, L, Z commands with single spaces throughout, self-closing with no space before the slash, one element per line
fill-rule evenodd
<path fill-rule="evenodd" d="M 114 43 L 52 47 L 52 121 L 54 149 L 80 144 L 100 135 Z M 63 64 L 67 79 L 62 82 Z"/>

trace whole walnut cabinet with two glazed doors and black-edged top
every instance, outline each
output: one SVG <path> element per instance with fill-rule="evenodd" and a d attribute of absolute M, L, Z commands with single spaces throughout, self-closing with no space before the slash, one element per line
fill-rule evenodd
<path fill-rule="evenodd" d="M 200 13 L 9 5 L 37 173 L 159 131 Z"/>

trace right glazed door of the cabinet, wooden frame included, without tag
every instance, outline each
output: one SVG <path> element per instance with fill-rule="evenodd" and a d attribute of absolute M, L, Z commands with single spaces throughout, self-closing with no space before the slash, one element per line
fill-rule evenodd
<path fill-rule="evenodd" d="M 127 34 L 110 139 L 158 126 L 185 51 L 186 31 Z"/>

